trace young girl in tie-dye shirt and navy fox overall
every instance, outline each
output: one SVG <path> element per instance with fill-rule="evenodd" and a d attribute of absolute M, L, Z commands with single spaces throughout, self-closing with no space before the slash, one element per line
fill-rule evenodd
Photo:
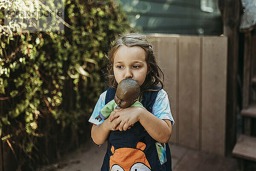
<path fill-rule="evenodd" d="M 157 66 L 151 44 L 145 35 L 122 35 L 114 42 L 108 58 L 110 88 L 100 95 L 89 119 L 93 141 L 101 145 L 108 140 L 101 171 L 171 171 L 167 142 L 174 120 L 160 79 L 163 72 Z M 117 84 L 124 78 L 140 84 L 139 101 L 145 108 L 119 108 L 99 122 L 96 116 L 114 99 Z"/>

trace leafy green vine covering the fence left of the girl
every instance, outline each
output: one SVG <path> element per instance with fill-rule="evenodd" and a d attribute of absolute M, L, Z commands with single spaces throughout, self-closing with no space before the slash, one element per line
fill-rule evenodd
<path fill-rule="evenodd" d="M 0 137 L 13 167 L 49 164 L 87 139 L 105 54 L 129 29 L 113 0 L 0 0 Z"/>

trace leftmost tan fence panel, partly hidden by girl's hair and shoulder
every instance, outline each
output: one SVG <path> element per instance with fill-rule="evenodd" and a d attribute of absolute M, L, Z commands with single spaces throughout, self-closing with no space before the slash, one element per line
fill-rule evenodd
<path fill-rule="evenodd" d="M 158 54 L 160 68 L 164 73 L 164 90 L 167 92 L 172 116 L 175 120 L 175 125 L 172 126 L 171 142 L 177 143 L 177 102 L 176 102 L 176 79 L 177 79 L 177 39 L 176 37 L 165 38 L 159 37 L 158 39 Z"/>

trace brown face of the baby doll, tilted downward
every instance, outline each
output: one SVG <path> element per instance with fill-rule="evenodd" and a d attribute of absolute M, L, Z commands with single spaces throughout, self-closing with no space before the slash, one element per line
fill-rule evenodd
<path fill-rule="evenodd" d="M 118 85 L 116 89 L 115 102 L 120 108 L 130 107 L 137 101 L 136 95 L 133 93 L 134 88 L 124 88 L 122 85 Z"/>

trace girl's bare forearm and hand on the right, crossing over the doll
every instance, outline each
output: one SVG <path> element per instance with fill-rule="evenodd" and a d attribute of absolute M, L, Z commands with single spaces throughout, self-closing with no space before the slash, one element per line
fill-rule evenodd
<path fill-rule="evenodd" d="M 172 124 L 170 120 L 160 119 L 143 107 L 128 107 L 114 111 L 116 111 L 116 113 L 113 113 L 110 117 L 110 122 L 115 122 L 114 125 L 119 124 L 119 130 L 127 130 L 129 126 L 139 121 L 149 135 L 156 141 L 162 143 L 169 141 L 172 134 Z M 113 129 L 116 128 L 113 127 Z"/>

